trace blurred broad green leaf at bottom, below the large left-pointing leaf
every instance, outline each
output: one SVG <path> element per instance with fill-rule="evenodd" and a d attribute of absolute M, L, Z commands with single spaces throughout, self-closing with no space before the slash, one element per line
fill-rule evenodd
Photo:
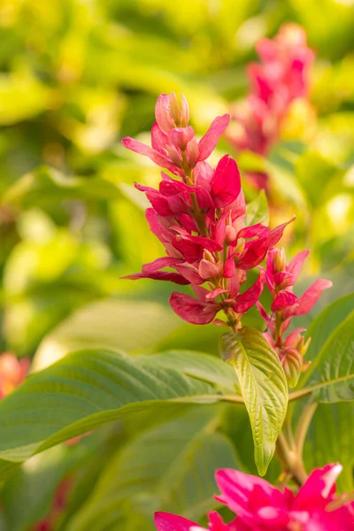
<path fill-rule="evenodd" d="M 219 409 L 215 413 L 214 407 L 194 407 L 128 442 L 108 464 L 69 529 L 83 531 L 91 526 L 104 531 L 107 519 L 110 528 L 119 528 L 121 513 L 128 523 L 133 514 L 151 518 L 154 511 L 199 519 L 215 507 L 215 470 L 238 467 L 232 444 L 225 435 L 213 432 Z"/>

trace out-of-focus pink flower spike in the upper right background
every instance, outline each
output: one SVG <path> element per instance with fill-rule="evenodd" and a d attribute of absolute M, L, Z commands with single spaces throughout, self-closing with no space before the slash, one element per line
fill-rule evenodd
<path fill-rule="evenodd" d="M 256 48 L 261 63 L 248 68 L 250 95 L 232 107 L 235 121 L 227 136 L 238 150 L 266 155 L 278 140 L 291 105 L 308 97 L 314 54 L 304 29 L 295 24 L 281 27 L 273 40 L 260 39 Z M 258 188 L 266 188 L 266 175 L 253 177 Z"/>

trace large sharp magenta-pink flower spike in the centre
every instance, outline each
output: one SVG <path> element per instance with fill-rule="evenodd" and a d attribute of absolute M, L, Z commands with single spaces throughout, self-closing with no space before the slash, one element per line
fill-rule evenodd
<path fill-rule="evenodd" d="M 180 105 L 174 94 L 163 94 L 158 97 L 156 123 L 151 128 L 152 147 L 132 138 L 123 140 L 128 149 L 150 157 L 178 177 L 173 179 L 162 172 L 159 189 L 135 185 L 150 201 L 146 217 L 167 256 L 126 278 L 190 284 L 196 297 L 173 293 L 173 311 L 198 325 L 212 321 L 225 324 L 216 319 L 223 311 L 227 325 L 235 330 L 242 315 L 258 301 L 266 282 L 266 274 L 260 271 L 258 280 L 243 290 L 248 271 L 266 258 L 292 219 L 272 230 L 261 223 L 247 227 L 235 160 L 226 155 L 216 168 L 205 161 L 229 119 L 229 115 L 214 119 L 197 142 L 193 127 L 188 125 L 186 99 L 182 96 Z"/>

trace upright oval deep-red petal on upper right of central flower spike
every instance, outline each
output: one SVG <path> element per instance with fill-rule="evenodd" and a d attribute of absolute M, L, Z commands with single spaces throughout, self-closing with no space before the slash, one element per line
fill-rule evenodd
<path fill-rule="evenodd" d="M 241 177 L 233 158 L 229 155 L 219 160 L 212 177 L 212 200 L 216 208 L 235 201 L 241 191 Z"/>

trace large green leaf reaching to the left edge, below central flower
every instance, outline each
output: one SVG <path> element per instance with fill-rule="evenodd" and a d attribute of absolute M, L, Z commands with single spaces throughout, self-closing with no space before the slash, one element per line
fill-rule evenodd
<path fill-rule="evenodd" d="M 220 362 L 221 363 L 221 362 Z M 34 453 L 125 415 L 222 400 L 212 385 L 106 350 L 82 350 L 36 373 L 0 403 L 0 458 Z"/>

